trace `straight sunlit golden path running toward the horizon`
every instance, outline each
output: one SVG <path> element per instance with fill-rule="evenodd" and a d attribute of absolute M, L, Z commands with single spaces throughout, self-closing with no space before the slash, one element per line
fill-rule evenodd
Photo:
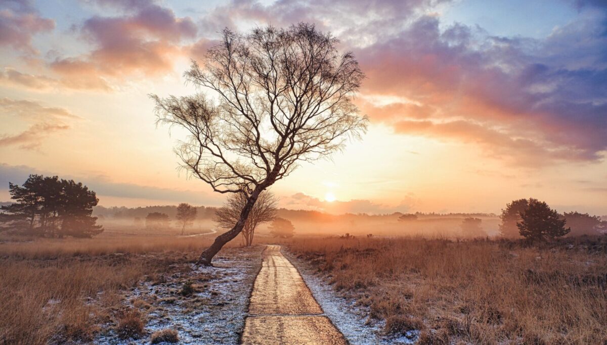
<path fill-rule="evenodd" d="M 242 344 L 346 345 L 280 246 L 263 251 Z"/>

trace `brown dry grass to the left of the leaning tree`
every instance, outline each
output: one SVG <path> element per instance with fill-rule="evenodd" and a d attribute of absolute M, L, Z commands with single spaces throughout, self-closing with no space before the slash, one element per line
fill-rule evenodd
<path fill-rule="evenodd" d="M 90 341 L 108 323 L 136 337 L 144 315 L 124 312 L 125 292 L 141 280 L 189 269 L 212 238 L 2 238 L 0 344 Z"/>

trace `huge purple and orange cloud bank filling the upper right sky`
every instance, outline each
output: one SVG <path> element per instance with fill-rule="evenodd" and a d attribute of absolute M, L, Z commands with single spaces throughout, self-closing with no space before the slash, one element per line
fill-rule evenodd
<path fill-rule="evenodd" d="M 572 1 L 580 14 L 545 39 L 443 25 L 435 13 L 442 2 L 242 0 L 201 25 L 217 32 L 308 21 L 332 31 L 367 74 L 359 107 L 396 133 L 470 142 L 525 166 L 604 158 L 607 12 L 598 1 Z M 412 122 L 420 120 L 428 122 Z"/>

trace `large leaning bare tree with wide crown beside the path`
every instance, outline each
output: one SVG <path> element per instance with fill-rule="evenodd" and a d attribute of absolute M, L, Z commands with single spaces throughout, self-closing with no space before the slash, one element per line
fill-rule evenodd
<path fill-rule="evenodd" d="M 175 150 L 181 167 L 215 192 L 247 196 L 234 227 L 198 263 L 211 264 L 243 229 L 260 193 L 299 161 L 330 155 L 367 129 L 367 117 L 353 104 L 364 74 L 352 53 L 337 51 L 337 42 L 304 23 L 248 35 L 225 29 L 202 67 L 192 62 L 185 73 L 209 96 L 152 95 L 157 122 L 188 133 Z"/>

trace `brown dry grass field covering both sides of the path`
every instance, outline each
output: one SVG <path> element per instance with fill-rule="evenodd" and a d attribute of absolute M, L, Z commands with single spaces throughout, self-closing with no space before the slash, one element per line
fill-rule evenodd
<path fill-rule="evenodd" d="M 183 276 L 212 238 L 2 238 L 0 344 L 86 343 L 107 327 L 141 332 L 150 301 L 135 302 L 134 312 L 125 307 L 129 291 Z M 607 341 L 605 236 L 542 246 L 319 236 L 286 242 L 334 290 L 384 322 L 383 332 L 419 330 L 420 344 Z M 226 255 L 239 245 L 237 238 Z"/>

